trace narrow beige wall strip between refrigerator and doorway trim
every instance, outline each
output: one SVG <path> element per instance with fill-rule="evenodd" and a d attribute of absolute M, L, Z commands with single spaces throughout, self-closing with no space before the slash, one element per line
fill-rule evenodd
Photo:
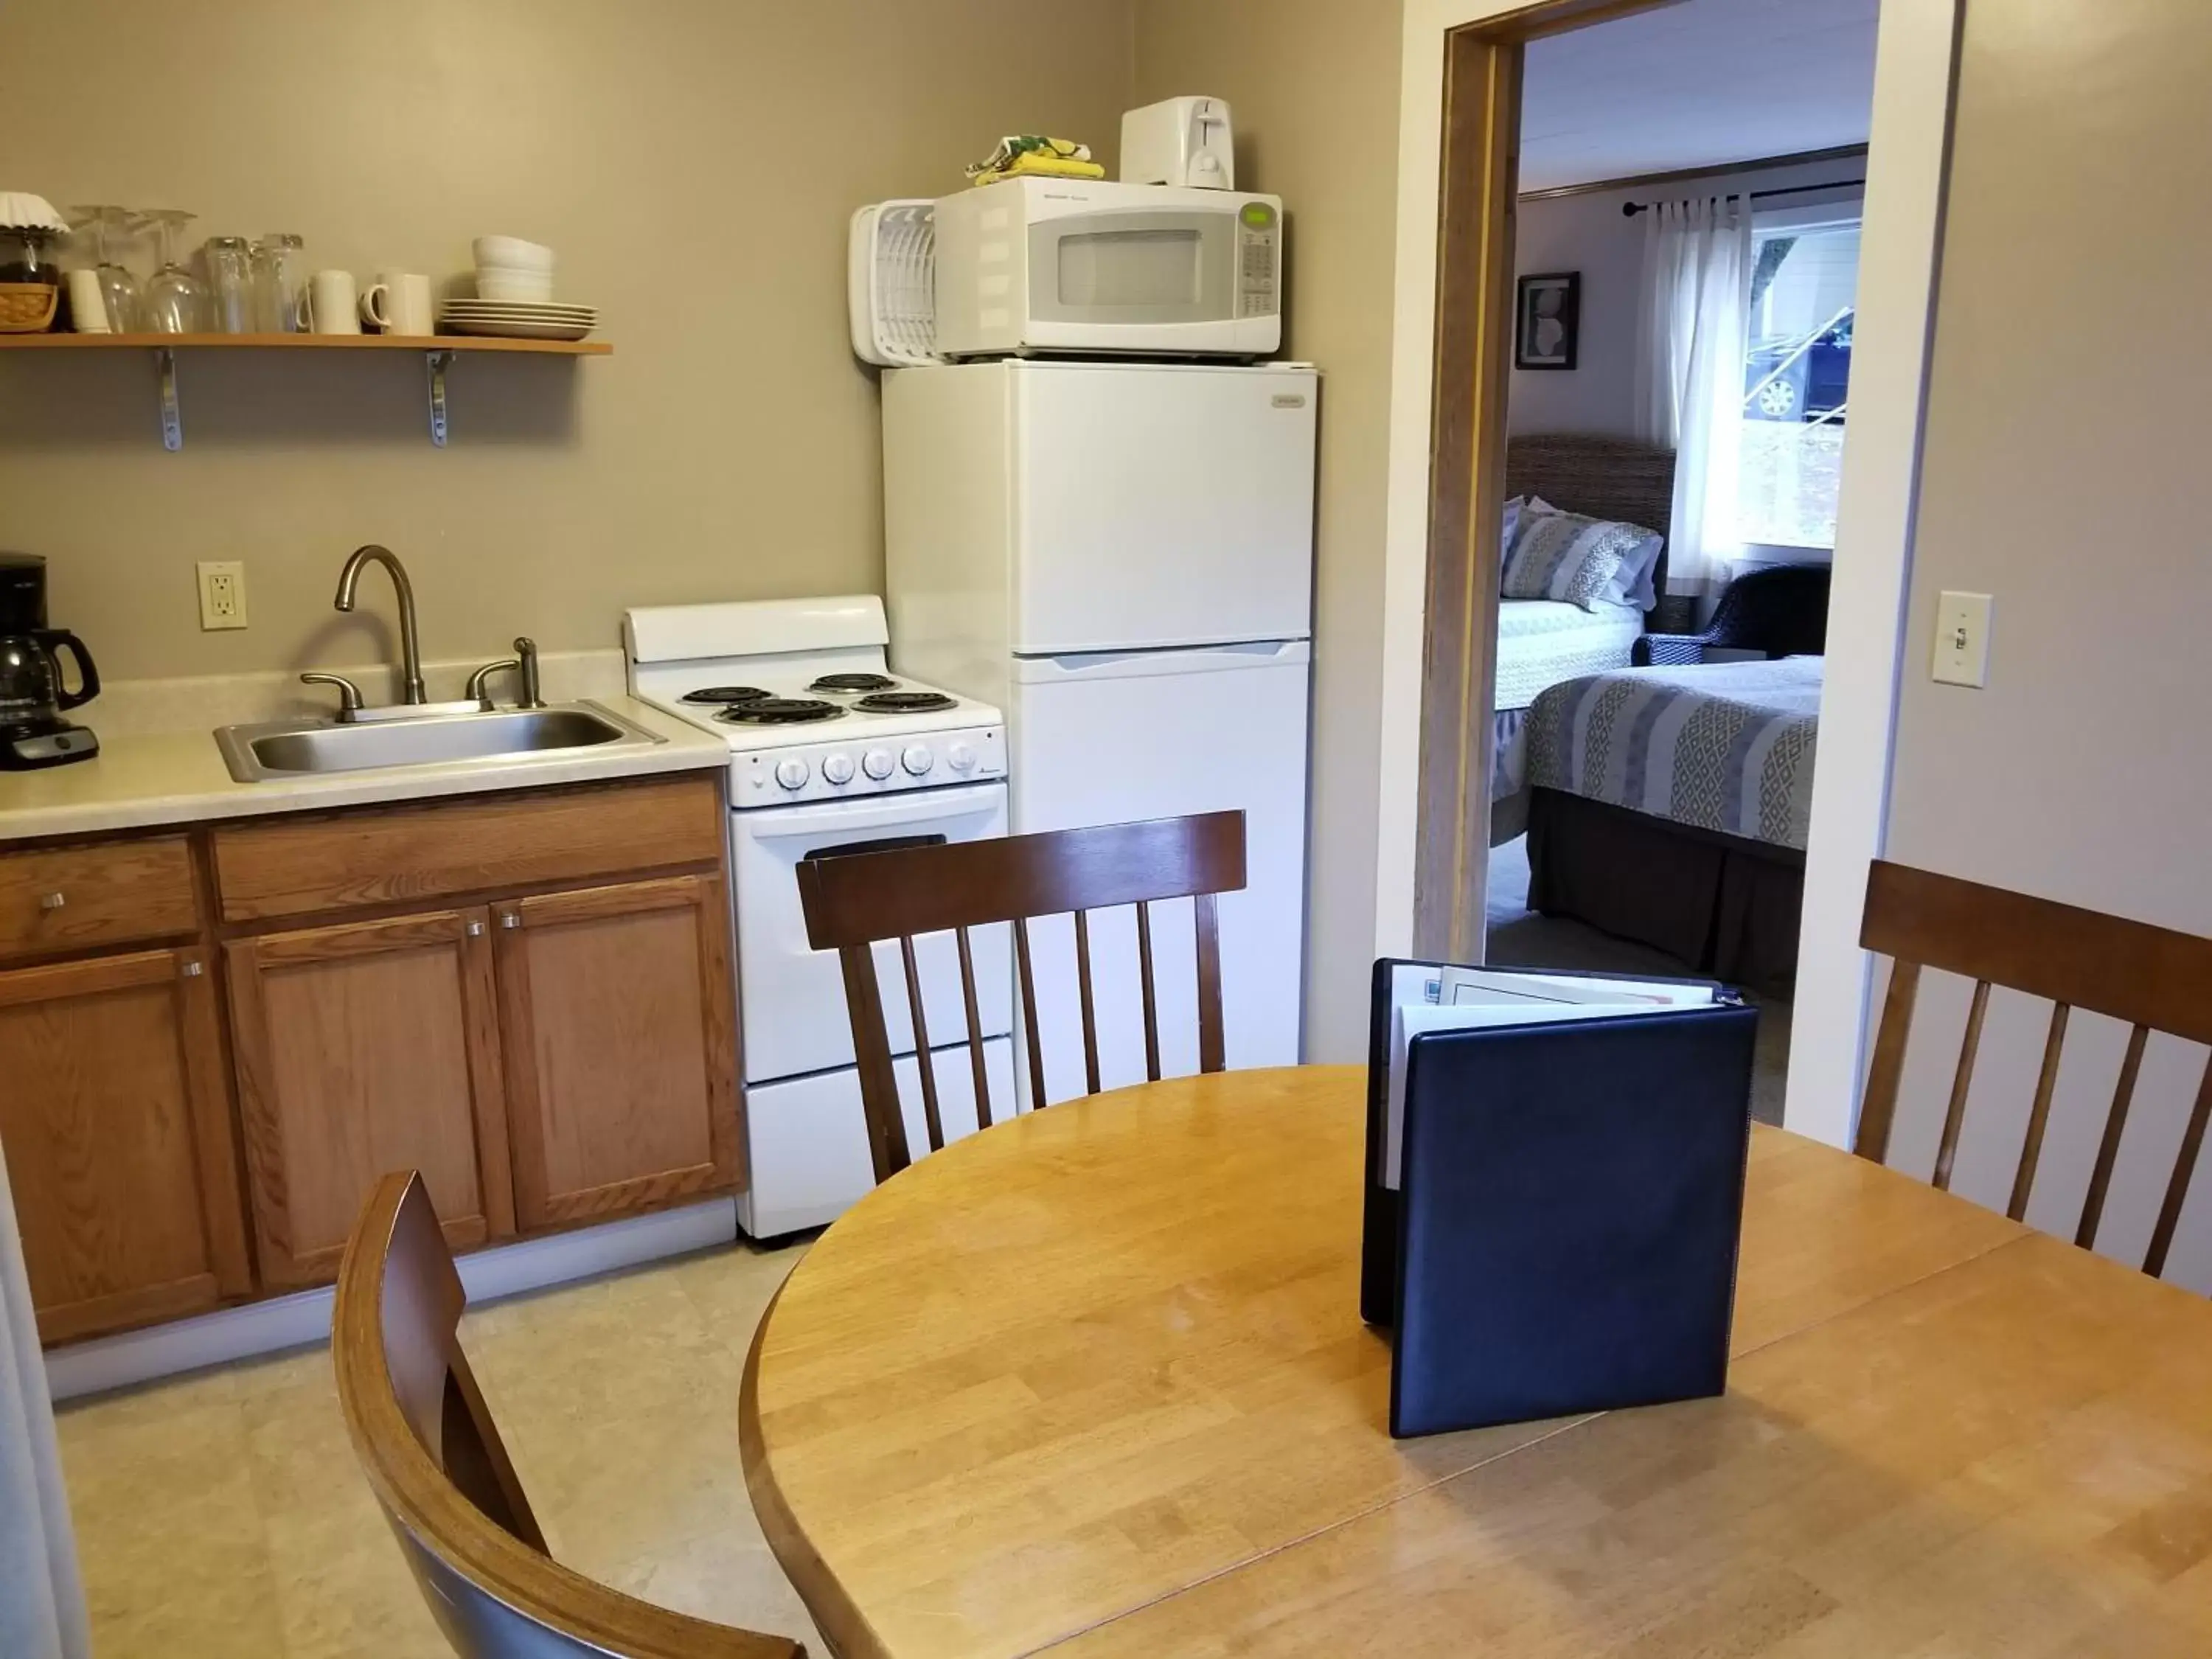
<path fill-rule="evenodd" d="M 1398 7 L 1137 0 L 1135 102 L 1179 93 L 1225 97 L 1237 186 L 1285 199 L 1285 354 L 1323 372 L 1305 1033 L 1312 1060 L 1360 1060 L 1376 936 Z"/>

